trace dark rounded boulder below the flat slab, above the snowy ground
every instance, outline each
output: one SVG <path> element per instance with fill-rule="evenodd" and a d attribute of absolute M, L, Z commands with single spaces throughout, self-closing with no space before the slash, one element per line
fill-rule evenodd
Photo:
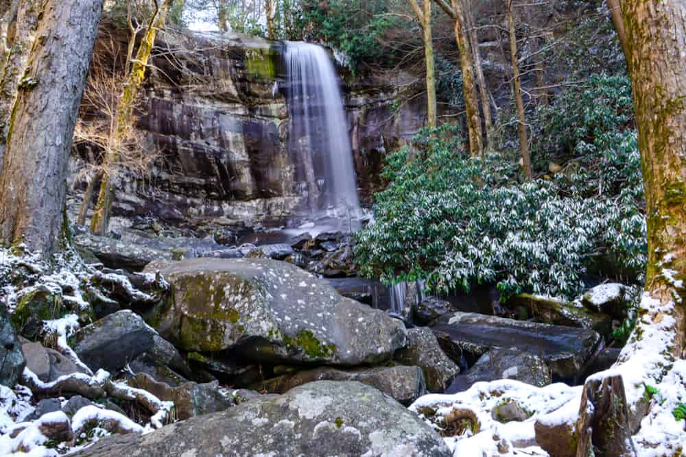
<path fill-rule="evenodd" d="M 447 392 L 462 392 L 475 382 L 500 379 L 517 380 L 539 387 L 551 382 L 550 369 L 539 356 L 517 349 L 491 349 L 468 371 L 457 376 Z"/>

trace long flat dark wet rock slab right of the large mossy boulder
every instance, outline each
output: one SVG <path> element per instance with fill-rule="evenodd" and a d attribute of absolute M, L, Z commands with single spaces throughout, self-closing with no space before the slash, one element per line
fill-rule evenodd
<path fill-rule="evenodd" d="M 449 353 L 481 355 L 490 349 L 519 349 L 540 356 L 560 378 L 573 378 L 601 337 L 593 330 L 515 321 L 471 312 L 446 314 L 431 327 Z"/>

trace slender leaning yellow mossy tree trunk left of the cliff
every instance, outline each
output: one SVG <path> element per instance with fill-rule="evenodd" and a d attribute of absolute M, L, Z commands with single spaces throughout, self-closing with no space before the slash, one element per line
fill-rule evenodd
<path fill-rule="evenodd" d="M 173 0 L 165 0 L 160 8 L 152 15 L 145 30 L 145 36 L 141 40 L 141 45 L 136 53 L 136 58 L 131 66 L 126 84 L 124 85 L 123 97 L 117 107 L 117 121 L 115 135 L 121 136 L 132 122 L 133 105 L 138 97 L 139 89 L 145 79 L 145 69 L 147 61 L 150 59 L 152 47 L 158 30 L 165 26 L 169 8 Z M 116 140 L 115 140 L 116 143 Z M 91 219 L 91 231 L 95 234 L 105 234 L 109 225 L 110 209 L 112 208 L 113 186 L 112 180 L 115 177 L 115 167 L 119 161 L 119 155 L 113 149 L 107 151 L 103 162 L 103 175 L 100 184 L 100 193 Z"/>

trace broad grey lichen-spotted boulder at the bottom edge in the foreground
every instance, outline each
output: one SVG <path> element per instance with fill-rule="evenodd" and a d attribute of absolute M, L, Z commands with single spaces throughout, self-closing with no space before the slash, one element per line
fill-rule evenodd
<path fill-rule="evenodd" d="M 451 452 L 429 425 L 359 382 L 311 382 L 150 434 L 112 436 L 75 454 L 128 456 L 432 456 Z"/>

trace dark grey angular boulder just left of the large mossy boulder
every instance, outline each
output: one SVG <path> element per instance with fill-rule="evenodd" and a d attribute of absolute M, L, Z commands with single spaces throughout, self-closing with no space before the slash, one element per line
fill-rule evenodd
<path fill-rule="evenodd" d="M 69 344 L 93 371 L 117 371 L 151 349 L 155 336 L 142 317 L 121 310 L 81 328 Z"/>

